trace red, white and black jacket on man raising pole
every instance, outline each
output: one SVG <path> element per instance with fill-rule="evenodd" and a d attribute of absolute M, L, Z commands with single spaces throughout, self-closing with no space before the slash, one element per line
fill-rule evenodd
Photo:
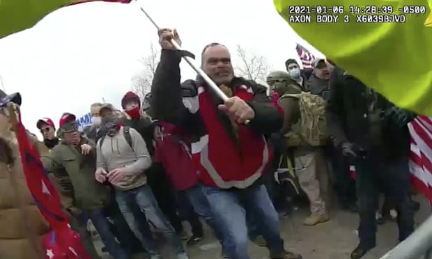
<path fill-rule="evenodd" d="M 151 89 L 153 117 L 178 125 L 190 135 L 193 168 L 203 185 L 251 186 L 272 161 L 265 136 L 279 132 L 283 111 L 270 102 L 265 86 L 235 77 L 229 84 L 233 95 L 245 100 L 255 116 L 248 125 L 238 125 L 234 134 L 228 116 L 217 109 L 222 100 L 213 91 L 201 80 L 180 84 L 179 63 L 179 52 L 162 49 Z"/>

